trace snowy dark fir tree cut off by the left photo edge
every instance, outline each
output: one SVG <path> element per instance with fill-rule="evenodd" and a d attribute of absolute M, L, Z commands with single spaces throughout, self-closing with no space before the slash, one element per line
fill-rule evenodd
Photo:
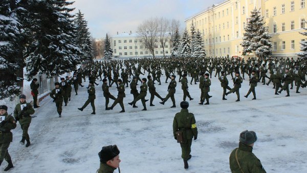
<path fill-rule="evenodd" d="M 16 72 L 22 69 L 23 40 L 20 24 L 16 17 L 11 1 L 3 0 L 0 6 L 0 99 L 20 93 L 17 85 L 22 78 Z"/>

